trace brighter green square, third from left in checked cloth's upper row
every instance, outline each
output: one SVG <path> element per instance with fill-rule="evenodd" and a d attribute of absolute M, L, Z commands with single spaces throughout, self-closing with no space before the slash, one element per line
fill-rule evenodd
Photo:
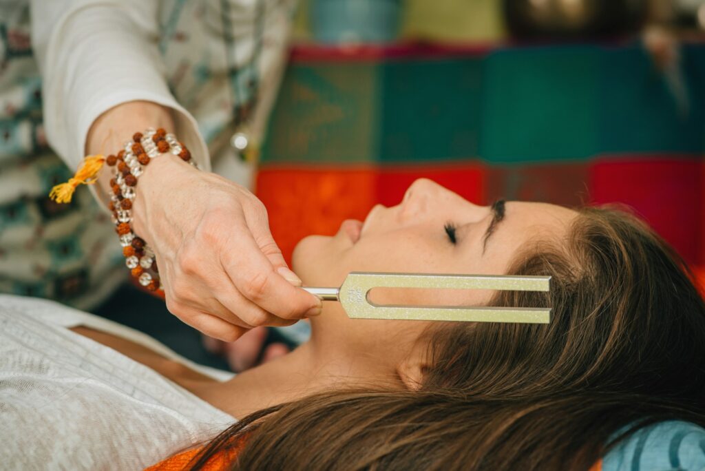
<path fill-rule="evenodd" d="M 480 157 L 587 159 L 598 142 L 599 49 L 505 49 L 486 59 Z"/>

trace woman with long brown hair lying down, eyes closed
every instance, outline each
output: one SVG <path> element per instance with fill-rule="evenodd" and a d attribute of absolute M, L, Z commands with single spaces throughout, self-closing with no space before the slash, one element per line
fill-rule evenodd
<path fill-rule="evenodd" d="M 0 463 L 12 469 L 701 470 L 705 305 L 632 216 L 471 204 L 421 180 L 362 227 L 298 245 L 308 286 L 350 271 L 552 276 L 551 324 L 349 319 L 227 380 L 51 302 L 0 298 Z M 408 300 L 410 303 L 414 299 Z M 442 302 L 441 302 L 442 304 Z"/>

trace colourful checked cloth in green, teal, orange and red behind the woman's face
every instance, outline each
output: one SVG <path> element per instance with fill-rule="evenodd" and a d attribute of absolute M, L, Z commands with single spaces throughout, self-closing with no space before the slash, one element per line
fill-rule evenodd
<path fill-rule="evenodd" d="M 257 178 L 285 255 L 425 177 L 482 204 L 624 202 L 705 265 L 705 45 L 682 48 L 685 102 L 639 44 L 314 52 Z"/>

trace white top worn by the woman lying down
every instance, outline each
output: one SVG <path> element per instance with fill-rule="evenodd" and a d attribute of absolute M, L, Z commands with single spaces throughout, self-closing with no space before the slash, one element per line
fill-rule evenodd
<path fill-rule="evenodd" d="M 137 470 L 233 417 L 68 328 L 128 338 L 216 379 L 154 339 L 55 302 L 0 295 L 0 463 L 9 470 Z"/>

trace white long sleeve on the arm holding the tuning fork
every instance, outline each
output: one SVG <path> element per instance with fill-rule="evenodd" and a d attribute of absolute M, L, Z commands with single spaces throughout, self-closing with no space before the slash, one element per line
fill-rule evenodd
<path fill-rule="evenodd" d="M 47 140 L 71 169 L 82 161 L 88 130 L 100 114 L 147 100 L 173 109 L 179 140 L 201 169 L 210 170 L 195 119 L 168 89 L 157 6 L 150 0 L 32 0 Z"/>

